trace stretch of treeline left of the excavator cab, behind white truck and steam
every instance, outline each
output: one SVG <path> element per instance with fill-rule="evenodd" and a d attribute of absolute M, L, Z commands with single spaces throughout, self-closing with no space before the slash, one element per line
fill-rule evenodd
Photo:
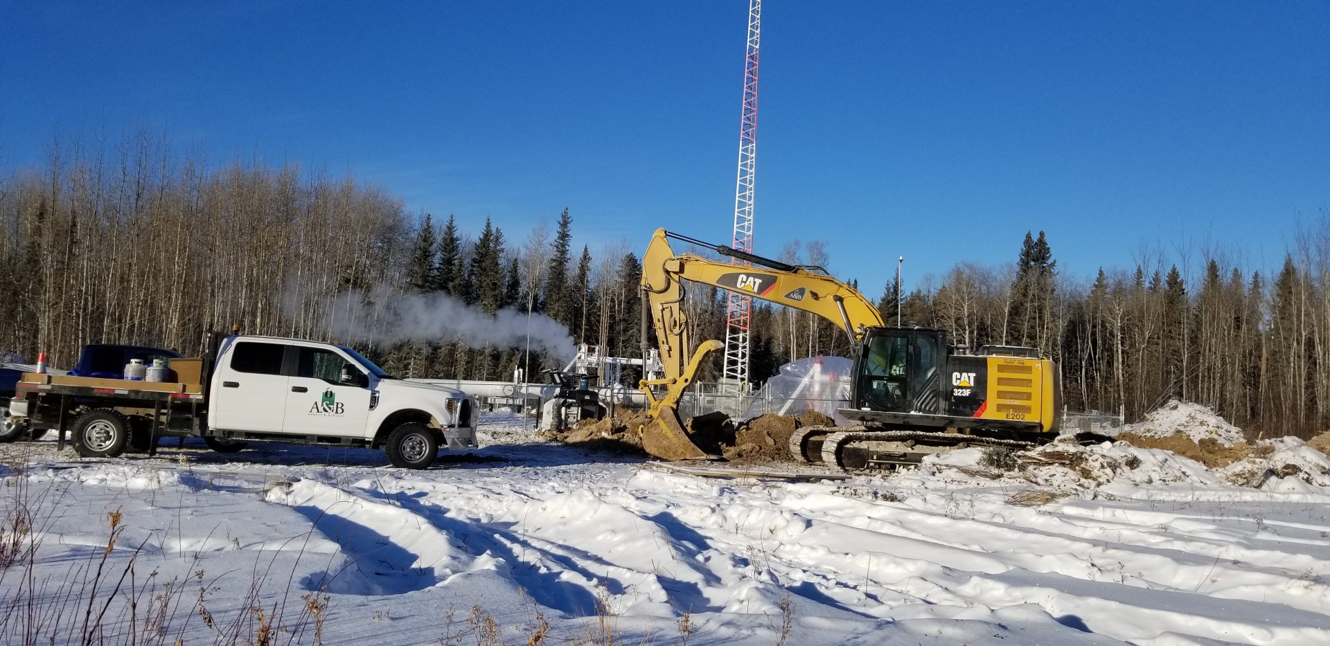
<path fill-rule="evenodd" d="M 0 352 L 35 360 L 45 351 L 56 367 L 94 342 L 193 355 L 205 332 L 241 324 L 247 334 L 348 342 L 408 377 L 511 379 L 527 366 L 524 348 L 448 338 L 331 339 L 339 295 L 391 286 L 488 314 L 544 314 L 577 343 L 640 356 L 636 245 L 593 254 L 573 243 L 572 225 L 565 209 L 552 227 L 520 237 L 489 219 L 468 231 L 452 215 L 408 215 L 400 199 L 351 177 L 210 165 L 202 152 L 177 154 L 146 134 L 110 149 L 57 142 L 41 167 L 0 175 Z M 809 250 L 822 262 L 819 245 Z M 724 338 L 724 299 L 694 291 L 694 338 Z M 826 343 L 827 326 L 807 315 L 758 311 L 754 323 L 754 376 L 801 352 L 846 350 Z M 532 354 L 528 377 L 563 362 Z M 702 377 L 718 374 L 717 358 Z"/>

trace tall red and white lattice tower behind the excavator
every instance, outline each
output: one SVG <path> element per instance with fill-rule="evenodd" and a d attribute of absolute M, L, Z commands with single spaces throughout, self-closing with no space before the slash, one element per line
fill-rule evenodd
<path fill-rule="evenodd" d="M 739 116 L 739 173 L 734 189 L 734 249 L 753 251 L 753 183 L 757 179 L 757 58 L 762 27 L 762 0 L 749 0 L 747 57 L 743 64 L 743 110 Z M 751 265 L 730 258 L 734 265 Z M 725 381 L 747 385 L 749 320 L 753 298 L 729 292 L 725 328 Z"/>

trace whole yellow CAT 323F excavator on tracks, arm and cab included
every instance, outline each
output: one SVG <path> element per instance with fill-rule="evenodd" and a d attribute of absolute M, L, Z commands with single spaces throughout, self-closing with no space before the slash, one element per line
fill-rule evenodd
<path fill-rule="evenodd" d="M 751 266 L 674 254 L 670 239 Z M 868 299 L 821 267 L 789 265 L 658 229 L 642 257 L 641 284 L 665 376 L 640 383 L 649 417 L 642 445 L 656 457 L 714 457 L 684 429 L 678 403 L 706 356 L 724 343 L 690 346 L 684 280 L 813 312 L 845 330 L 855 348 L 854 379 L 850 405 L 837 412 L 858 425 L 798 429 L 790 437 L 790 453 L 799 461 L 882 468 L 918 464 L 928 453 L 956 447 L 1028 448 L 1059 435 L 1057 367 L 1033 348 L 984 346 L 975 354 L 954 352 L 943 330 L 887 327 Z"/>

